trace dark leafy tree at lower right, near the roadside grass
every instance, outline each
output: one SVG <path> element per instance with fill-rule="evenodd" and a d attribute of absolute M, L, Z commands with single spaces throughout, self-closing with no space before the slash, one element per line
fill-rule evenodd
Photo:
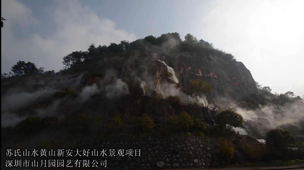
<path fill-rule="evenodd" d="M 266 145 L 274 154 L 280 153 L 284 158 L 288 158 L 288 145 L 295 143 L 295 138 L 285 129 L 271 129 L 266 133 Z"/>

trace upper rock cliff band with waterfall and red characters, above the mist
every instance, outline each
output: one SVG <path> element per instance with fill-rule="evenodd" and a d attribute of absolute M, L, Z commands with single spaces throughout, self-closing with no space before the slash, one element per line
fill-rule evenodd
<path fill-rule="evenodd" d="M 162 87 L 164 83 L 175 84 L 184 89 L 192 79 L 211 82 L 214 99 L 230 97 L 238 100 L 248 94 L 257 93 L 254 79 L 242 62 L 227 62 L 218 56 L 200 53 L 151 52 L 140 56 L 116 56 L 95 63 L 83 63 L 71 71 L 85 71 L 84 68 L 100 71 L 103 76 L 107 75 L 108 70 L 115 70 L 115 74 L 126 83 L 143 80 L 160 94 L 166 91 Z M 166 77 L 167 72 L 172 73 L 172 77 Z"/>

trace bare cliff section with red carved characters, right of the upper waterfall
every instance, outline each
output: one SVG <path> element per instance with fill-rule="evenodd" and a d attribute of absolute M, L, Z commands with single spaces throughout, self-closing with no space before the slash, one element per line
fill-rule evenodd
<path fill-rule="evenodd" d="M 254 79 L 242 62 L 226 62 L 217 56 L 197 53 L 158 55 L 157 58 L 174 68 L 182 87 L 191 79 L 203 78 L 212 83 L 214 97 L 240 99 L 245 95 L 257 93 Z"/>

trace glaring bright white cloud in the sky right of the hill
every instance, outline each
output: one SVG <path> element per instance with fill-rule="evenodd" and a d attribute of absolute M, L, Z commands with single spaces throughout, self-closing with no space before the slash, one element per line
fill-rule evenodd
<path fill-rule="evenodd" d="M 302 96 L 304 1 L 214 1 L 198 22 L 197 37 L 231 52 L 255 80 L 274 92 Z M 300 83 L 300 84 L 298 84 Z"/>

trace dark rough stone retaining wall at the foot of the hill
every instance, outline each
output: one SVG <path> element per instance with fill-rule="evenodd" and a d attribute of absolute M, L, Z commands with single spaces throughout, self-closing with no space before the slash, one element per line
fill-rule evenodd
<path fill-rule="evenodd" d="M 133 157 L 108 156 L 107 169 L 159 169 L 208 167 L 223 163 L 219 140 L 206 137 L 112 137 L 57 140 L 54 147 L 78 149 L 134 149 Z M 140 149 L 140 156 L 135 156 Z M 115 155 L 117 152 L 115 153 Z M 126 152 L 124 153 L 126 154 Z M 98 157 L 100 158 L 100 157 Z"/>

